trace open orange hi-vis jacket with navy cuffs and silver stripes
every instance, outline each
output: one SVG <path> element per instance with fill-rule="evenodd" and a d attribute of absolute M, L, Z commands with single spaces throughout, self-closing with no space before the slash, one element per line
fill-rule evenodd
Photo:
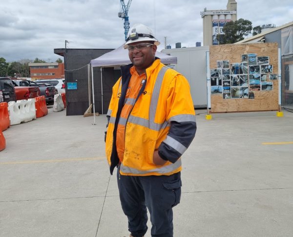
<path fill-rule="evenodd" d="M 146 68 L 146 78 L 135 99 L 126 99 L 132 64 L 121 67 L 122 77 L 113 86 L 107 112 L 106 157 L 113 174 L 131 176 L 172 175 L 182 170 L 181 156 L 196 132 L 195 113 L 188 81 L 166 67 L 160 59 Z M 127 118 L 121 117 L 125 104 L 132 103 Z M 124 156 L 119 160 L 116 138 L 119 125 L 125 126 Z M 167 162 L 153 163 L 154 151 Z"/>

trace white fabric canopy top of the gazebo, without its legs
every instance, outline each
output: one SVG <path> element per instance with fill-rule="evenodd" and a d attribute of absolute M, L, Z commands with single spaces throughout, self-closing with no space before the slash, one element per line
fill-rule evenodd
<path fill-rule="evenodd" d="M 169 56 L 167 54 L 156 52 L 156 57 L 161 59 L 161 62 L 164 64 L 177 63 L 177 58 Z M 92 67 L 114 67 L 118 65 L 127 65 L 131 63 L 128 57 L 128 50 L 124 49 L 123 45 L 119 48 L 114 49 L 99 58 L 90 60 Z"/>

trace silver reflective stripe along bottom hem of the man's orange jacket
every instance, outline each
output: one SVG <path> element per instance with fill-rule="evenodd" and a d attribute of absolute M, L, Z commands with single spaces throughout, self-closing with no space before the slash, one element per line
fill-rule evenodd
<path fill-rule="evenodd" d="M 151 170 L 138 170 L 134 168 L 130 168 L 125 166 L 123 163 L 120 166 L 120 170 L 126 174 L 134 174 L 134 175 L 145 175 L 152 172 L 159 173 L 159 174 L 167 174 L 172 172 L 173 170 L 178 169 L 181 166 L 181 159 L 178 159 L 175 163 L 168 164 L 166 166 L 162 166 L 160 168 L 155 168 Z"/>

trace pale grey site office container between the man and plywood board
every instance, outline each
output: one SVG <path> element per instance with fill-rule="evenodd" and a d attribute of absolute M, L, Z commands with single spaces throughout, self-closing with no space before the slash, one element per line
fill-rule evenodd
<path fill-rule="evenodd" d="M 207 108 L 207 63 L 209 46 L 163 49 L 163 53 L 177 57 L 173 69 L 188 79 L 194 108 Z"/>

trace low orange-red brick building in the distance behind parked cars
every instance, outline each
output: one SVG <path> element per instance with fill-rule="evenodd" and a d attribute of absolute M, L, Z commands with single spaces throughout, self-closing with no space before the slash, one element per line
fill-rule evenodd
<path fill-rule="evenodd" d="M 28 65 L 32 79 L 64 78 L 63 62 L 34 62 Z"/>

